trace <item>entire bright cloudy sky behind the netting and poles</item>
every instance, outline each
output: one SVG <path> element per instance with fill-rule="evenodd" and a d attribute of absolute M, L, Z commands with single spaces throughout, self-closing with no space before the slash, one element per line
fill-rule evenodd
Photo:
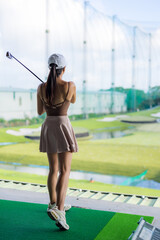
<path fill-rule="evenodd" d="M 147 34 L 154 34 L 153 62 L 154 84 L 160 77 L 160 1 L 159 0 L 90 0 L 87 23 L 87 73 L 83 56 L 83 1 L 49 0 L 48 28 L 49 51 L 64 53 L 67 58 L 65 80 L 75 81 L 82 88 L 84 78 L 88 89 L 109 88 L 111 84 L 112 22 L 107 16 L 138 26 Z M 146 4 L 147 3 L 147 4 Z M 93 7 L 93 9 L 92 9 Z M 0 87 L 37 88 L 39 81 L 16 61 L 5 57 L 10 51 L 41 79 L 48 73 L 46 57 L 46 1 L 0 1 Z M 106 17 L 105 17 L 106 16 Z M 127 25 L 126 25 L 127 26 Z M 116 23 L 116 73 L 117 86 L 131 86 L 131 29 Z M 147 89 L 147 35 L 137 31 L 137 87 Z M 127 46 L 127 47 L 126 47 Z M 142 50 L 138 50 L 142 49 Z M 139 81 L 141 79 L 141 81 Z M 144 82 L 143 82 L 144 79 Z"/>

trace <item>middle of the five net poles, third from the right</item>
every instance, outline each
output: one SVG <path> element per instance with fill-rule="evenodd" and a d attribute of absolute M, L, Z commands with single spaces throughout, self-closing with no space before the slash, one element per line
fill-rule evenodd
<path fill-rule="evenodd" d="M 111 54 L 111 106 L 110 112 L 114 113 L 114 85 L 115 85 L 115 19 L 112 17 L 112 54 Z"/>

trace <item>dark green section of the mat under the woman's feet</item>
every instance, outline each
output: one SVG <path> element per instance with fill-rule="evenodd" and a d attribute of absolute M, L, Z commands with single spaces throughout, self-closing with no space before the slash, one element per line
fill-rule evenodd
<path fill-rule="evenodd" d="M 60 231 L 46 213 L 47 205 L 0 200 L 0 236 L 5 240 L 93 240 L 114 212 L 71 208 L 69 231 Z"/>

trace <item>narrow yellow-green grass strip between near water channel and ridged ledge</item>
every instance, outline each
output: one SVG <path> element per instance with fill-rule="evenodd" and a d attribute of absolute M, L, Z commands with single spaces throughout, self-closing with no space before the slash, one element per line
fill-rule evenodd
<path fill-rule="evenodd" d="M 45 185 L 47 184 L 47 176 L 21 173 L 21 172 L 3 170 L 3 169 L 0 169 L 0 178 L 6 179 L 6 180 L 20 181 L 20 182 L 38 183 L 38 184 L 45 184 Z M 90 181 L 87 181 L 87 180 L 69 179 L 69 187 L 103 191 L 103 192 L 116 192 L 116 193 L 160 197 L 160 190 L 156 190 L 156 189 L 105 184 L 100 182 L 91 183 Z"/>

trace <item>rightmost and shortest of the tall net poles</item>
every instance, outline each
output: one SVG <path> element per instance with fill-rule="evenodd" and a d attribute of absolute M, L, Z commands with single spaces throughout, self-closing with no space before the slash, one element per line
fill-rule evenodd
<path fill-rule="evenodd" d="M 151 81 L 152 81 L 152 34 L 148 34 L 149 37 L 149 57 L 148 57 L 148 98 L 150 108 L 152 107 L 151 102 Z"/>

